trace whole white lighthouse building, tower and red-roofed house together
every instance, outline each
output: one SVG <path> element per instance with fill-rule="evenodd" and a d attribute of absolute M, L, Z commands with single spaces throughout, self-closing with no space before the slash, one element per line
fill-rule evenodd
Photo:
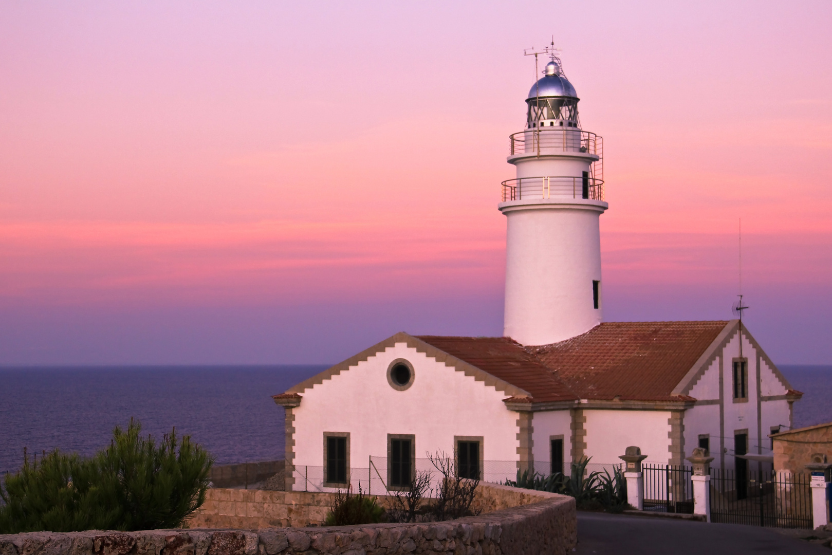
<path fill-rule="evenodd" d="M 498 205 L 504 337 L 394 334 L 275 395 L 287 489 L 404 487 L 439 450 L 489 481 L 617 464 L 630 445 L 648 463 L 706 447 L 713 466 L 747 468 L 743 455 L 769 455 L 767 436 L 791 427 L 801 394 L 740 322 L 602 323 L 602 139 L 581 129 L 557 57 L 544 73 Z"/>

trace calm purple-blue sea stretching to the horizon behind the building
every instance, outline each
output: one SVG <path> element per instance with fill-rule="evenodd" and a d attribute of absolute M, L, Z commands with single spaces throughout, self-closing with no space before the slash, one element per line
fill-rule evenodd
<path fill-rule="evenodd" d="M 84 456 L 110 444 L 130 419 L 161 438 L 176 428 L 216 464 L 276 460 L 283 409 L 271 395 L 325 369 L 309 366 L 96 366 L 0 368 L 0 476 L 29 456 L 60 449 Z M 781 365 L 792 387 L 795 428 L 832 421 L 832 366 Z"/>

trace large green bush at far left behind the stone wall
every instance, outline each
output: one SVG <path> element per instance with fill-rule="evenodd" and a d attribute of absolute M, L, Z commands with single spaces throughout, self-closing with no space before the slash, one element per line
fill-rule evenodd
<path fill-rule="evenodd" d="M 178 528 L 205 502 L 213 463 L 176 429 L 160 444 L 132 419 L 92 458 L 47 453 L 0 487 L 0 533 Z"/>

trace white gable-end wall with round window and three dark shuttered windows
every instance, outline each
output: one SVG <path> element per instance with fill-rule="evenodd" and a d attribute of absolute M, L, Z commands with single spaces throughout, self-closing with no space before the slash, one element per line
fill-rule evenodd
<path fill-rule="evenodd" d="M 414 383 L 404 391 L 387 380 L 389 363 L 399 358 L 414 366 Z M 369 455 L 386 457 L 387 434 L 414 434 L 417 458 L 438 449 L 452 454 L 453 436 L 468 435 L 483 436 L 486 461 L 518 460 L 518 414 L 505 408 L 507 395 L 404 343 L 301 396 L 294 409 L 295 466 L 323 467 L 324 432 L 349 432 L 353 468 L 368 468 Z"/>

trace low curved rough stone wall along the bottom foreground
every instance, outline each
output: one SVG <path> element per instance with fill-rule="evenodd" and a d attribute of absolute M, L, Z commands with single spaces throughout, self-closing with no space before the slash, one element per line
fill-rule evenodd
<path fill-rule="evenodd" d="M 498 488 L 508 503 L 513 488 Z M 505 488 L 505 489 L 503 489 Z M 484 489 L 484 488 L 483 488 Z M 525 493 L 525 492 L 524 492 Z M 0 555 L 544 555 L 577 543 L 575 500 L 527 493 L 537 503 L 442 523 L 330 528 L 178 529 L 148 532 L 34 532 L 0 535 Z M 488 501 L 488 493 L 483 500 Z M 497 499 L 503 499 L 498 502 Z"/>

